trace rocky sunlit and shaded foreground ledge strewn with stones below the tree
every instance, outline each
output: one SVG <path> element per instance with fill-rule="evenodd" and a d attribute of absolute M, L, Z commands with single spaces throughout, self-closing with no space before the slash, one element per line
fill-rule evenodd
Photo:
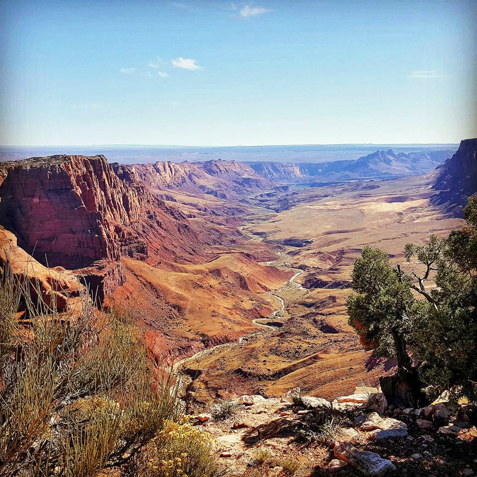
<path fill-rule="evenodd" d="M 332 403 L 296 391 L 281 398 L 242 396 L 191 419 L 214 436 L 230 476 L 475 475 L 475 407 L 388 407 L 373 391 L 357 388 Z M 230 415 L 222 420 L 224 410 Z"/>

